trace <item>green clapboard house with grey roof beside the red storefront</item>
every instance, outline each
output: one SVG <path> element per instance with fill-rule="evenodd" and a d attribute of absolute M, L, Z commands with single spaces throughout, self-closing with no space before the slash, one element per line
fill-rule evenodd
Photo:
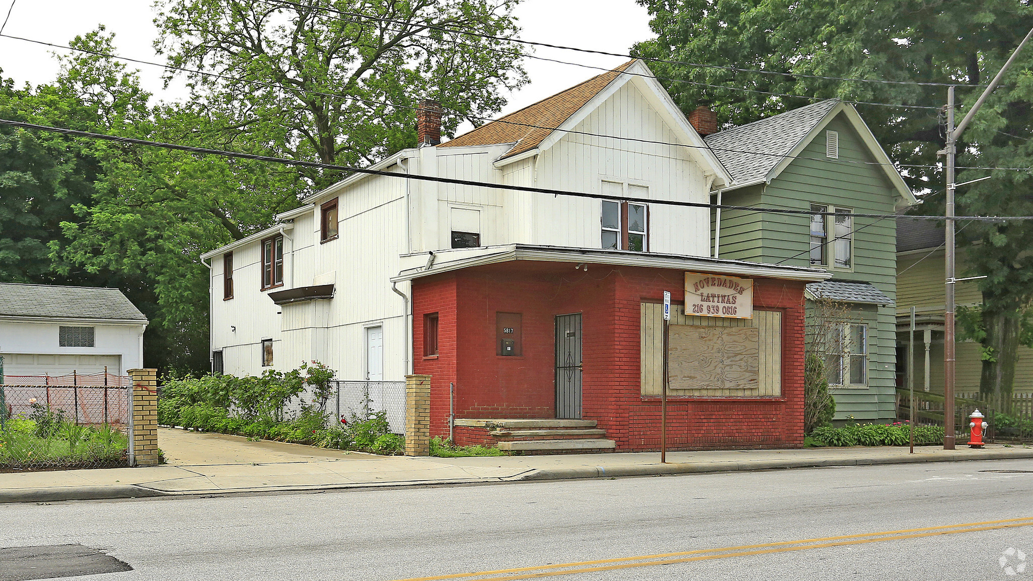
<path fill-rule="evenodd" d="M 714 256 L 827 269 L 832 278 L 807 288 L 808 338 L 820 344 L 835 419 L 894 420 L 897 223 L 849 214 L 891 214 L 915 197 L 872 131 L 833 99 L 706 142 L 737 184 L 715 202 L 806 212 L 714 210 Z"/>

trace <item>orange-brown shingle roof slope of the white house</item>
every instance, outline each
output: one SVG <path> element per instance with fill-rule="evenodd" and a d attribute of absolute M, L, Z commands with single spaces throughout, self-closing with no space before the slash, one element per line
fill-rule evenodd
<path fill-rule="evenodd" d="M 486 123 L 476 129 L 463 133 L 455 140 L 445 142 L 438 147 L 461 147 L 476 145 L 495 145 L 515 143 L 502 157 L 530 151 L 540 144 L 554 129 L 559 127 L 571 115 L 577 112 L 592 97 L 599 94 L 618 74 L 623 72 L 635 61 L 628 61 L 621 66 L 598 74 L 574 85 L 573 87 L 544 98 L 534 104 L 510 113 L 498 120 Z M 529 127 L 534 125 L 535 127 Z M 538 128 L 543 127 L 543 128 Z"/>

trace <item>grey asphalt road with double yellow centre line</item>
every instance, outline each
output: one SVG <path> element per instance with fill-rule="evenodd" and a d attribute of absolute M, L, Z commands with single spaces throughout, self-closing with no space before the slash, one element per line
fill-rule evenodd
<path fill-rule="evenodd" d="M 68 544 L 133 568 L 97 581 L 1033 579 L 1033 460 L 0 506 L 0 549 Z"/>

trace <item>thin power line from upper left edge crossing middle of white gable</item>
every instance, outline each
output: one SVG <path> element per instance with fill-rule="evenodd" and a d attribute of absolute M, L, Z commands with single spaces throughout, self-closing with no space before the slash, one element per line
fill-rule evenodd
<path fill-rule="evenodd" d="M 179 71 L 179 72 L 188 72 L 188 73 L 192 73 L 192 74 L 200 74 L 200 75 L 204 75 L 204 77 L 211 77 L 211 78 L 214 78 L 214 79 L 221 79 L 221 80 L 224 80 L 224 81 L 232 81 L 232 82 L 243 83 L 243 84 L 254 84 L 254 85 L 259 85 L 259 86 L 271 88 L 271 89 L 279 89 L 279 90 L 283 90 L 283 91 L 287 91 L 287 92 L 293 92 L 293 93 L 299 93 L 299 94 L 320 95 L 320 96 L 331 97 L 331 98 L 335 98 L 335 99 L 345 98 L 345 99 L 352 99 L 354 101 L 358 101 L 358 102 L 362 102 L 362 103 L 365 103 L 365 104 L 369 104 L 369 105 L 387 105 L 387 106 L 393 106 L 393 108 L 396 108 L 396 109 L 407 109 L 407 110 L 410 110 L 410 111 L 419 111 L 419 108 L 414 106 L 414 105 L 404 105 L 404 104 L 397 104 L 397 103 L 392 103 L 392 102 L 387 102 L 387 101 L 378 101 L 378 100 L 373 100 L 373 99 L 364 99 L 362 97 L 356 97 L 356 96 L 353 96 L 353 95 L 342 95 L 340 93 L 327 93 L 327 92 L 324 92 L 324 91 L 315 91 L 315 90 L 310 90 L 310 89 L 298 89 L 298 88 L 293 88 L 293 87 L 285 87 L 285 86 L 279 85 L 277 83 L 269 83 L 269 82 L 264 82 L 264 81 L 253 80 L 253 79 L 242 79 L 240 77 L 232 77 L 232 75 L 228 75 L 228 74 L 222 74 L 222 73 L 219 73 L 219 72 L 209 72 L 209 71 L 205 71 L 205 70 L 199 70 L 199 69 L 194 69 L 194 68 L 188 68 L 188 67 L 183 67 L 183 66 L 175 66 L 175 65 L 169 65 L 169 64 L 164 64 L 164 63 L 158 63 L 158 62 L 154 62 L 154 61 L 146 61 L 146 60 L 134 59 L 134 58 L 130 58 L 130 57 L 123 57 L 123 56 L 115 55 L 115 54 L 111 54 L 111 53 L 103 53 L 103 52 L 100 52 L 100 51 L 92 51 L 90 49 L 83 49 L 83 48 L 77 48 L 77 47 L 69 47 L 67 44 L 57 44 L 57 43 L 54 43 L 54 42 L 46 42 L 44 40 L 36 40 L 36 39 L 33 39 L 33 38 L 25 38 L 23 36 L 13 36 L 13 35 L 10 35 L 10 34 L 0 34 L 0 37 L 11 38 L 11 39 L 14 39 L 14 40 L 23 40 L 23 41 L 26 41 L 26 42 L 32 42 L 32 43 L 35 43 L 35 44 L 41 44 L 41 45 L 44 45 L 44 47 L 51 47 L 51 48 L 55 48 L 55 49 L 64 49 L 64 50 L 67 50 L 67 51 L 76 51 L 76 52 L 86 53 L 86 54 L 90 54 L 90 55 L 96 55 L 96 56 L 100 56 L 100 57 L 105 57 L 105 58 L 111 58 L 111 59 L 117 59 L 117 60 L 122 60 L 122 61 L 137 63 L 137 64 L 146 64 L 146 65 L 150 65 L 150 66 L 158 66 L 158 67 L 165 68 L 167 70 L 175 70 L 175 71 Z M 544 130 L 549 130 L 549 131 L 558 131 L 558 130 L 561 130 L 559 127 L 550 127 L 550 126 L 545 126 L 545 125 L 537 125 L 537 124 L 534 124 L 534 123 L 523 123 L 523 122 L 519 122 L 519 121 L 507 121 L 505 119 L 492 119 L 492 118 L 489 118 L 489 117 L 479 117 L 479 116 L 475 116 L 475 115 L 462 115 L 462 116 L 465 117 L 465 118 L 469 118 L 469 119 L 476 119 L 478 121 L 494 122 L 494 123 L 503 123 L 503 124 L 507 124 L 507 125 L 515 125 L 515 126 L 527 127 L 527 128 L 531 128 L 531 129 L 544 129 Z M 727 153 L 744 153 L 744 154 L 749 154 L 749 155 L 761 155 L 761 156 L 766 156 L 766 157 L 779 157 L 779 158 L 792 157 L 794 159 L 807 159 L 807 160 L 811 160 L 811 161 L 826 161 L 826 162 L 829 161 L 829 159 L 827 159 L 827 158 L 792 156 L 792 155 L 790 155 L 788 153 L 771 153 L 771 152 L 764 152 L 764 151 L 748 151 L 748 150 L 739 150 L 739 149 L 717 148 L 717 147 L 710 147 L 710 146 L 707 146 L 707 145 L 703 145 L 703 146 L 694 146 L 694 145 L 680 144 L 680 143 L 674 143 L 674 142 L 663 142 L 663 141 L 659 141 L 659 140 L 647 140 L 647 139 L 643 139 L 643 137 L 628 137 L 628 136 L 621 136 L 621 135 L 607 135 L 607 134 L 604 134 L 604 133 L 593 133 L 591 131 L 578 131 L 576 129 L 564 129 L 564 131 L 567 132 L 567 133 L 572 133 L 572 134 L 577 134 L 577 135 L 587 135 L 587 136 L 594 136 L 594 137 L 604 137 L 604 139 L 609 139 L 609 140 L 629 141 L 629 142 L 645 143 L 645 144 L 651 144 L 651 145 L 664 145 L 664 146 L 682 147 L 682 148 L 688 148 L 688 149 L 701 149 L 701 150 L 709 150 L 709 151 L 722 151 L 722 152 L 727 152 Z M 851 160 L 851 159 L 837 159 L 835 161 L 838 162 L 838 163 L 855 163 L 855 164 L 863 164 L 863 165 L 888 165 L 890 167 L 901 166 L 901 167 L 925 167 L 925 169 L 933 169 L 933 170 L 940 169 L 940 165 L 921 165 L 921 164 L 913 164 L 913 163 L 911 163 L 911 164 L 908 164 L 908 163 L 899 163 L 898 164 L 898 163 L 883 163 L 883 162 L 880 162 L 880 161 L 857 161 L 857 160 Z M 982 167 L 982 166 L 967 166 L 967 165 L 960 165 L 960 166 L 958 166 L 958 169 L 959 170 L 1008 170 L 1008 171 L 1021 171 L 1021 172 L 1028 172 L 1028 171 L 1033 170 L 1031 167 Z"/>

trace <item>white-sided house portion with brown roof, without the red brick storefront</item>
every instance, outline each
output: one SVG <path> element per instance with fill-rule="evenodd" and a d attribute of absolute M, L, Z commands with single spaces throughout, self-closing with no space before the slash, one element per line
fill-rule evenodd
<path fill-rule="evenodd" d="M 440 145 L 440 113 L 432 108 L 420 115 L 424 147 L 400 151 L 374 170 L 701 204 L 730 180 L 637 60 Z M 630 212 L 641 215 L 632 224 L 641 231 L 628 231 L 627 244 L 709 252 L 709 214 L 695 208 L 622 209 L 599 200 L 364 174 L 305 202 L 277 216 L 279 224 L 201 256 L 211 261 L 215 369 L 258 374 L 318 360 L 339 379 L 402 379 L 411 370 L 409 290 L 390 279 L 464 252 L 455 248 L 603 248 L 604 241 L 624 242 L 619 222 Z M 614 227 L 601 226 L 612 208 L 620 214 Z M 336 300 L 319 300 L 331 296 Z"/>

